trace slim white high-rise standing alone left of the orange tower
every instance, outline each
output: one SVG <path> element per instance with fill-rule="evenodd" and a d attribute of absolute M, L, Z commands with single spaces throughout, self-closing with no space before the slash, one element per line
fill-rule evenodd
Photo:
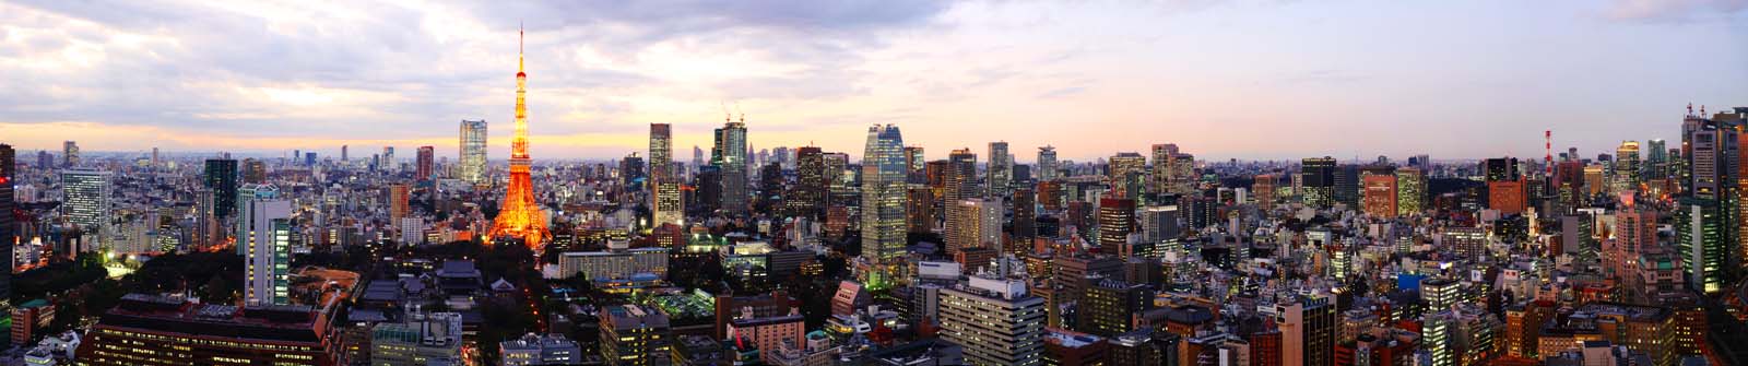
<path fill-rule="evenodd" d="M 243 299 L 248 305 L 287 305 L 292 294 L 292 203 L 250 200 L 248 214 L 248 242 L 243 249 L 248 287 Z"/>

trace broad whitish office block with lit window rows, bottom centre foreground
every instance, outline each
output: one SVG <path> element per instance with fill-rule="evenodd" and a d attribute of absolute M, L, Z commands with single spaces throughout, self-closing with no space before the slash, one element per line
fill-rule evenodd
<path fill-rule="evenodd" d="M 968 285 L 940 289 L 942 340 L 965 348 L 965 364 L 1035 366 L 1044 362 L 1044 298 L 1026 282 L 970 277 Z"/>

